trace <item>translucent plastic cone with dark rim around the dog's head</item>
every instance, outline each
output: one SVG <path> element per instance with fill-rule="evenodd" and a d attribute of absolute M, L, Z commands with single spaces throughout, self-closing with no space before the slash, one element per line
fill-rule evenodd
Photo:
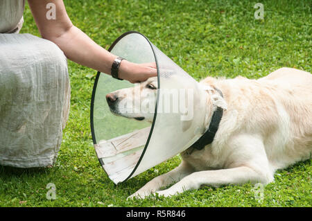
<path fill-rule="evenodd" d="M 105 73 L 96 76 L 91 105 L 94 148 L 105 172 L 118 184 L 197 141 L 206 100 L 196 80 L 144 35 L 125 33 L 109 51 L 157 67 L 157 76 L 135 85 Z"/>

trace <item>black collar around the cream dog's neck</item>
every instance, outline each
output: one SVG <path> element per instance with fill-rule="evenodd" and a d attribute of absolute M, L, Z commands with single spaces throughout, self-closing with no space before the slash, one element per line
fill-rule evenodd
<path fill-rule="evenodd" d="M 216 89 L 216 91 L 218 91 L 218 93 L 223 97 L 223 94 L 219 89 Z M 216 132 L 218 131 L 222 116 L 223 108 L 217 107 L 217 109 L 214 111 L 214 114 L 212 114 L 208 130 L 205 132 L 205 134 L 202 134 L 202 136 L 200 136 L 200 139 L 198 139 L 198 141 L 191 145 L 191 148 L 202 150 L 202 148 L 205 148 L 206 145 L 214 141 L 214 136 L 216 136 Z"/>

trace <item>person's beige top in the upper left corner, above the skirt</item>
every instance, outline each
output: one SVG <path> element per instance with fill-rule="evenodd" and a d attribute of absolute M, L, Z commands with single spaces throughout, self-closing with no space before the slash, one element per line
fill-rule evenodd
<path fill-rule="evenodd" d="M 19 33 L 25 0 L 0 0 L 0 33 Z"/>

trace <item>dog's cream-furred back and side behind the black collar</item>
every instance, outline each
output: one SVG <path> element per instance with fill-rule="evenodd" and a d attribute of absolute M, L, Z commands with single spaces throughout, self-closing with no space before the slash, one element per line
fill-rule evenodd
<path fill-rule="evenodd" d="M 259 80 L 207 78 L 202 82 L 223 91 L 229 116 L 233 110 L 238 112 L 235 123 L 225 112 L 227 132 L 229 123 L 231 134 L 261 134 L 272 170 L 311 158 L 311 73 L 282 68 Z"/>

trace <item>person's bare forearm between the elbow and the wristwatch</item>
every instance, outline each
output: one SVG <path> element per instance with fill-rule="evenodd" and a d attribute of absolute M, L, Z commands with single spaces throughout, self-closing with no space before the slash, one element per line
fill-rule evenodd
<path fill-rule="evenodd" d="M 117 56 L 96 44 L 76 26 L 71 26 L 58 37 L 46 38 L 57 44 L 69 60 L 103 73 L 111 73 L 112 62 Z"/>

